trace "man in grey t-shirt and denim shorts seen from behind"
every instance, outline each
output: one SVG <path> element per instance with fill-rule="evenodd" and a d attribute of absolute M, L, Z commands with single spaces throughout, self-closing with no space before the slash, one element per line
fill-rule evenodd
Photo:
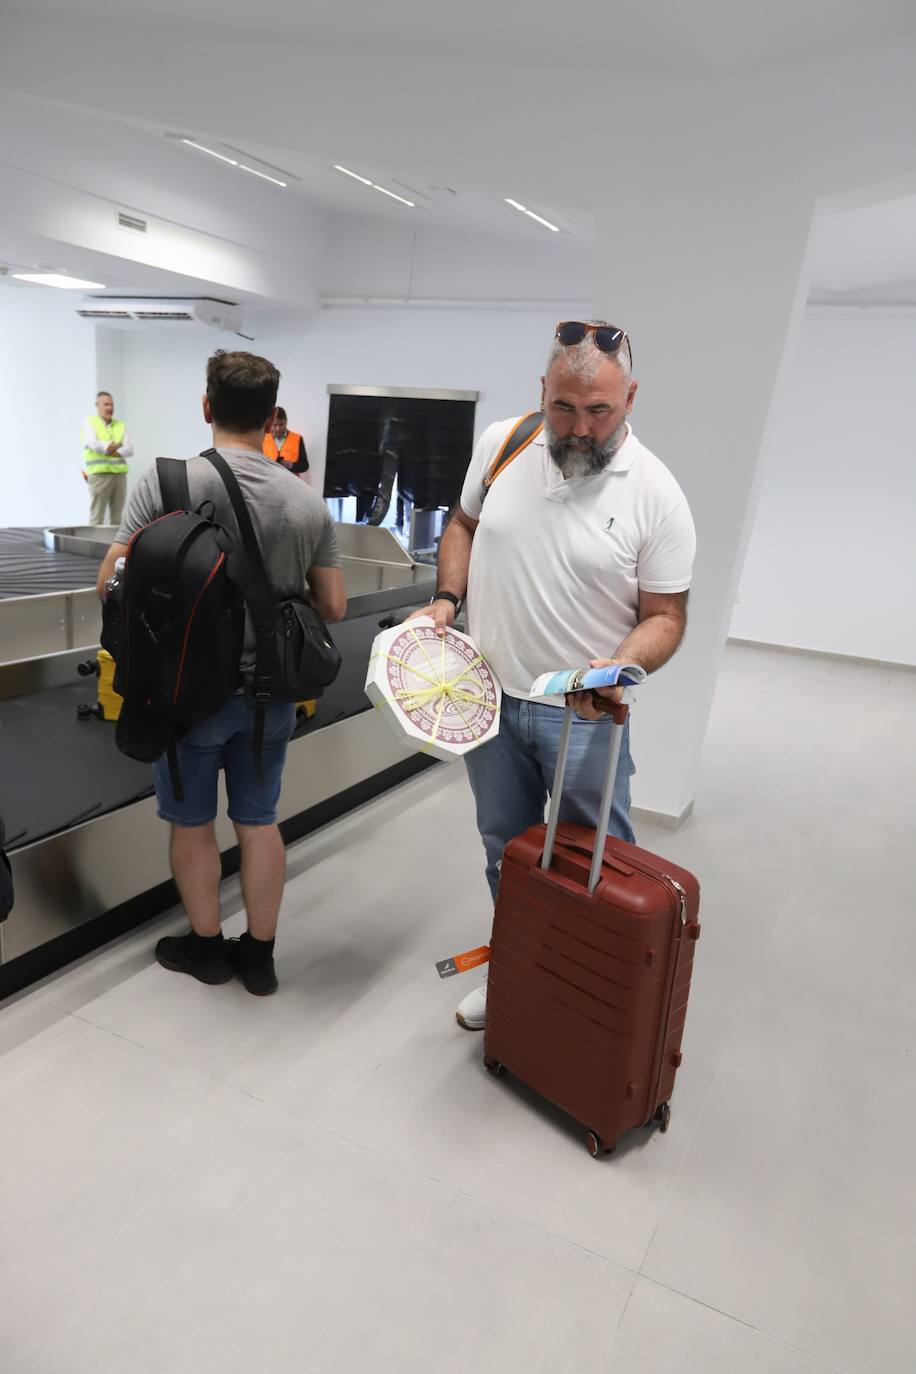
<path fill-rule="evenodd" d="M 266 359 L 218 349 L 207 363 L 203 418 L 213 426 L 213 447 L 242 488 L 276 599 L 308 595 L 325 621 L 342 620 L 346 594 L 327 506 L 310 486 L 262 452 L 279 382 L 280 374 Z M 213 502 L 217 523 L 236 533 L 229 496 L 206 459 L 188 459 L 188 491 L 192 507 Z M 132 536 L 162 514 L 154 467 L 130 497 L 117 540 L 99 572 L 99 595 Z M 254 666 L 254 658 L 249 620 L 243 673 Z M 166 936 L 157 944 L 155 956 L 165 969 L 190 973 L 201 982 L 227 982 L 235 971 L 249 992 L 262 996 L 276 991 L 273 940 L 286 864 L 276 808 L 294 724 L 291 703 L 268 706 L 258 769 L 254 703 L 247 694 L 236 692 L 179 742 L 181 801 L 174 796 L 165 758 L 154 764 L 159 816 L 172 826 L 172 872 L 191 922 L 188 934 Z M 224 941 L 220 929 L 220 851 L 213 829 L 220 768 L 225 771 L 229 819 L 239 841 L 242 894 L 249 916 L 249 929 L 232 941 Z"/>

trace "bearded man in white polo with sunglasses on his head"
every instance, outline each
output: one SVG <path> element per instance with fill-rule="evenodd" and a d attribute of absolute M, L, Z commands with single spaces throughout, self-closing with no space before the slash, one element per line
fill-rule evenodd
<path fill-rule="evenodd" d="M 444 631 L 467 594 L 468 633 L 503 684 L 499 736 L 466 758 L 493 899 L 505 845 L 544 819 L 556 764 L 563 701 L 529 701 L 531 683 L 585 664 L 666 664 L 684 636 L 696 547 L 684 493 L 626 420 L 637 383 L 623 330 L 559 324 L 541 386 L 542 416 L 490 425 L 478 441 L 426 611 Z M 586 826 L 607 764 L 600 698 L 619 688 L 575 697 L 560 808 Z M 632 772 L 625 736 L 608 833 L 630 842 Z M 486 984 L 457 1020 L 483 1029 Z"/>

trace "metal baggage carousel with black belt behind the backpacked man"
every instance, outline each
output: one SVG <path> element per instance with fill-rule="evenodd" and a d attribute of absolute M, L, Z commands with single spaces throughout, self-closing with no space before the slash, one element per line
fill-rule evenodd
<path fill-rule="evenodd" d="M 339 533 L 347 614 L 332 633 L 343 666 L 290 745 L 280 797 L 287 842 L 433 763 L 398 745 L 363 683 L 380 624 L 428 599 L 434 569 L 413 563 L 387 530 Z M 0 655 L 27 646 L 0 661 L 0 815 L 15 885 L 0 923 L 0 998 L 179 900 L 150 767 L 117 750 L 113 723 L 78 712 L 96 701 L 98 679 L 78 668 L 98 647 L 95 580 L 107 536 L 0 532 Z M 88 548 L 67 548 L 87 537 Z M 228 875 L 238 849 L 224 812 L 217 841 Z"/>

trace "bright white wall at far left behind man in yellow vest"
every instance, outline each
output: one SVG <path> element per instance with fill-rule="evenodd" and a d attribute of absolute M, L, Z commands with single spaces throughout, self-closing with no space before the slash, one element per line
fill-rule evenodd
<path fill-rule="evenodd" d="M 0 526 L 89 515 L 80 429 L 95 409 L 95 327 L 60 295 L 0 289 Z"/>

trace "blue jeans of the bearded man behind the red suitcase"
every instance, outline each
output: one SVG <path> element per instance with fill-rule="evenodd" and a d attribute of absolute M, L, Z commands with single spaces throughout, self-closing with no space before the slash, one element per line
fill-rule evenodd
<path fill-rule="evenodd" d="M 544 702 L 503 697 L 500 732 L 464 756 L 477 802 L 477 829 L 486 852 L 486 881 L 493 901 L 500 881 L 503 851 L 509 840 L 544 820 L 547 796 L 563 728 L 563 710 Z M 560 820 L 596 826 L 607 769 L 611 720 L 573 719 Z M 629 750 L 629 721 L 623 727 L 614 780 L 608 835 L 634 841 L 630 826 L 630 776 L 636 772 Z"/>

